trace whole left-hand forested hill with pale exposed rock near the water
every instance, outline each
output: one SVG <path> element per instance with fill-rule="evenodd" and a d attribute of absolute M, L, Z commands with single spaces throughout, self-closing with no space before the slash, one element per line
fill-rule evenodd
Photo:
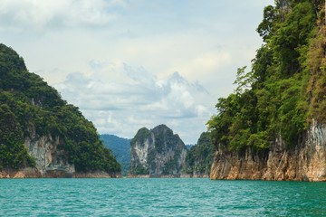
<path fill-rule="evenodd" d="M 0 44 L 0 177 L 115 177 L 91 121 Z"/>

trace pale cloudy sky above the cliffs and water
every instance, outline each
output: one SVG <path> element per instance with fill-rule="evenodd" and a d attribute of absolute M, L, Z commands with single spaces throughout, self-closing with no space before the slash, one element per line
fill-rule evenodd
<path fill-rule="evenodd" d="M 1 0 L 0 42 L 100 134 L 170 127 L 196 144 L 235 90 L 273 0 Z"/>

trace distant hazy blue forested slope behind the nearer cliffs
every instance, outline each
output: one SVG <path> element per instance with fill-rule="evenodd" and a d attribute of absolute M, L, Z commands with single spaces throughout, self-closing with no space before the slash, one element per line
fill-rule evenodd
<path fill-rule="evenodd" d="M 104 146 L 109 147 L 113 153 L 117 154 L 117 161 L 122 166 L 121 173 L 123 176 L 127 176 L 130 167 L 131 139 L 108 134 L 103 134 L 100 136 L 100 138 L 103 140 Z"/>

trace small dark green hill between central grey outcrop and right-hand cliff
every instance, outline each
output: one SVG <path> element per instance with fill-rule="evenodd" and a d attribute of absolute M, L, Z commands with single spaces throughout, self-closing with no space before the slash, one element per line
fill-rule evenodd
<path fill-rule="evenodd" d="M 214 146 L 210 134 L 202 133 L 196 146 L 187 151 L 186 165 L 183 171 L 187 174 L 209 175 L 213 163 Z"/>

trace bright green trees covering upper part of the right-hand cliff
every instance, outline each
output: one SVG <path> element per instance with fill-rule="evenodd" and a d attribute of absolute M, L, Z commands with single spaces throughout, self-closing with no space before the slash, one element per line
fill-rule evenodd
<path fill-rule="evenodd" d="M 216 145 L 243 153 L 267 150 L 281 136 L 298 144 L 312 119 L 325 123 L 323 1 L 276 1 L 264 9 L 257 32 L 264 44 L 252 70 L 237 71 L 235 92 L 218 99 L 207 125 Z"/>

